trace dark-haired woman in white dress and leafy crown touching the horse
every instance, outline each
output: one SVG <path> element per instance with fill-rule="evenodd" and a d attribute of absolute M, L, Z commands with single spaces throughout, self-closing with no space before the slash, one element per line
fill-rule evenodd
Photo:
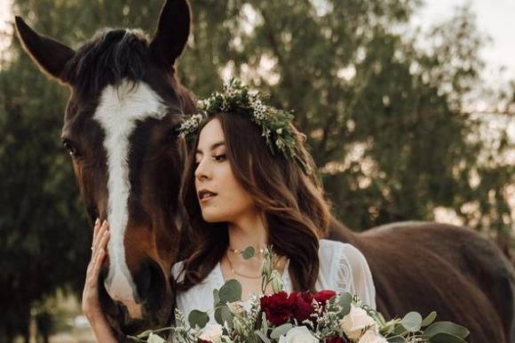
<path fill-rule="evenodd" d="M 262 252 L 272 245 L 285 291 L 350 291 L 376 307 L 366 259 L 348 243 L 321 239 L 329 224 L 305 136 L 289 112 L 266 106 L 237 81 L 199 102 L 180 134 L 196 134 L 182 185 L 193 231 L 189 259 L 173 267 L 176 305 L 186 317 L 213 305 L 226 280 L 242 283 L 242 299 L 261 291 Z M 198 133 L 198 134 L 197 134 Z M 83 309 L 99 341 L 115 341 L 99 310 L 96 280 L 105 258 L 107 223 L 95 226 Z M 252 259 L 242 251 L 253 247 Z M 266 290 L 271 291 L 271 290 Z M 210 317 L 214 323 L 214 318 Z"/>

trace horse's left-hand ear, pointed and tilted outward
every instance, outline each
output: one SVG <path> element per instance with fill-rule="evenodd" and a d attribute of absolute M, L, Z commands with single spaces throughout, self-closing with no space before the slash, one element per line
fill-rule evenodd
<path fill-rule="evenodd" d="M 75 55 L 75 51 L 52 38 L 37 34 L 18 16 L 16 16 L 16 32 L 32 60 L 45 73 L 65 82 L 61 74 L 67 61 Z"/>

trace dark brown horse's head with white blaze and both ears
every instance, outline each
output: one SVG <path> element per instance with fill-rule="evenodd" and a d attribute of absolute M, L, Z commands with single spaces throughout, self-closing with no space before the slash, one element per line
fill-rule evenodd
<path fill-rule="evenodd" d="M 180 116 L 193 110 L 173 66 L 190 18 L 186 0 L 170 0 L 152 39 L 133 30 L 104 30 L 76 51 L 16 18 L 28 54 L 72 90 L 62 141 L 91 223 L 109 221 L 99 294 L 119 334 L 170 318 L 185 153 L 174 132 Z"/>

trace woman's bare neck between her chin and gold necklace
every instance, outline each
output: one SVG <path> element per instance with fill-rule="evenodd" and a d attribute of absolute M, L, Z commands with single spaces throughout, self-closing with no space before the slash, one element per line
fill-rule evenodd
<path fill-rule="evenodd" d="M 251 212 L 234 222 L 228 223 L 229 247 L 242 251 L 252 246 L 257 251 L 265 248 L 268 235 L 263 216 L 259 212 Z"/>

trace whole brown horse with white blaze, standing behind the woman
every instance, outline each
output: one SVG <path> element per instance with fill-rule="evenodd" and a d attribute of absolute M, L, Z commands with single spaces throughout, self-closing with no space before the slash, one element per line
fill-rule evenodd
<path fill-rule="evenodd" d="M 174 71 L 189 35 L 186 0 L 166 2 L 150 41 L 108 30 L 74 51 L 20 18 L 16 27 L 36 64 L 72 90 L 62 139 L 88 217 L 111 224 L 99 283 L 110 323 L 120 340 L 168 324 L 170 266 L 188 237 L 178 203 L 186 146 L 172 135 L 194 110 Z M 406 222 L 358 235 L 334 219 L 330 238 L 363 251 L 385 315 L 436 310 L 470 328 L 470 342 L 515 341 L 515 272 L 471 230 Z"/>

